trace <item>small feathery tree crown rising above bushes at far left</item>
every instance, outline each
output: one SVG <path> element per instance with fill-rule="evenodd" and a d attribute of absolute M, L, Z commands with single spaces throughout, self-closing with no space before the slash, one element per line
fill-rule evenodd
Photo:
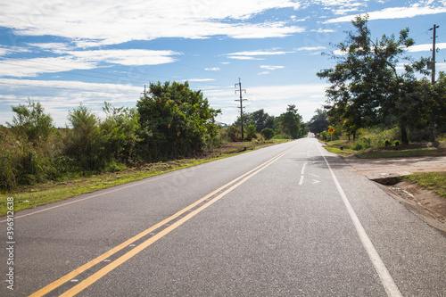
<path fill-rule="evenodd" d="M 6 124 L 18 135 L 26 136 L 26 140 L 36 144 L 37 141 L 46 141 L 48 136 L 54 132 L 53 118 L 44 113 L 44 108 L 37 102 L 28 99 L 28 105 L 19 104 L 12 106 L 16 115 L 12 123 Z"/>

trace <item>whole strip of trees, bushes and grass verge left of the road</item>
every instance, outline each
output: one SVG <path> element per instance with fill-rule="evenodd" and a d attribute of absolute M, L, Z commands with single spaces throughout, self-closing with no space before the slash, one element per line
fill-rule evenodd
<path fill-rule="evenodd" d="M 65 128 L 55 128 L 38 102 L 12 111 L 0 127 L 0 215 L 9 196 L 15 211 L 33 208 L 295 139 L 305 129 L 289 105 L 279 117 L 245 114 L 242 139 L 240 123 L 218 125 L 221 111 L 187 82 L 153 83 L 134 108 L 104 103 L 103 119 L 80 103 Z"/>

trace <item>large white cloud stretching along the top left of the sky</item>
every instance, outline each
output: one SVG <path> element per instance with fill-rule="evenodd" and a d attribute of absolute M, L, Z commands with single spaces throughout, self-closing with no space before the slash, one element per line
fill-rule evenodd
<path fill-rule="evenodd" d="M 0 26 L 16 35 L 67 37 L 79 46 L 115 45 L 160 37 L 285 37 L 303 29 L 286 22 L 248 22 L 260 12 L 297 9 L 292 0 L 184 1 L 16 0 L 4 4 Z"/>

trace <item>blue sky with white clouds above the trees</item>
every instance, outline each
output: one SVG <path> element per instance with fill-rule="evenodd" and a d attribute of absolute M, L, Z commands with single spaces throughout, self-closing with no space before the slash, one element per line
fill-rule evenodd
<path fill-rule="evenodd" d="M 0 124 L 11 106 L 39 101 L 58 127 L 79 103 L 103 116 L 103 102 L 136 106 L 145 84 L 189 81 L 219 121 L 245 112 L 278 116 L 295 104 L 303 120 L 325 102 L 318 70 L 335 62 L 351 20 L 368 13 L 374 38 L 409 27 L 409 54 L 446 70 L 446 0 L 0 0 Z"/>

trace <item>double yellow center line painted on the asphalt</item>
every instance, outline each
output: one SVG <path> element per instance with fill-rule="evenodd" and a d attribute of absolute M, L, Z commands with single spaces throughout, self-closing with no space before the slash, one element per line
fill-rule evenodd
<path fill-rule="evenodd" d="M 29 296 L 30 297 L 44 296 L 45 294 L 54 291 L 56 288 L 62 286 L 63 284 L 74 279 L 76 276 L 85 272 L 87 269 L 94 267 L 96 264 L 101 263 L 104 260 L 107 260 L 108 258 L 110 258 L 111 255 L 113 255 L 117 252 L 120 252 L 124 248 L 127 248 L 130 244 L 135 243 L 137 240 L 143 238 L 145 235 L 150 235 L 156 229 L 163 227 L 166 224 L 169 224 L 169 222 L 177 219 L 174 223 L 172 223 L 168 227 L 165 227 L 157 234 L 151 236 L 150 238 L 145 240 L 143 243 L 136 245 L 136 247 L 133 248 L 131 251 L 126 252 L 125 254 L 120 256 L 120 258 L 111 261 L 110 264 L 108 264 L 107 266 L 99 269 L 93 275 L 88 276 L 85 280 L 78 283 L 78 285 L 71 287 L 70 290 L 66 291 L 65 293 L 62 293 L 61 296 L 74 296 L 77 293 L 80 293 L 81 291 L 86 289 L 89 285 L 94 284 L 97 280 L 99 280 L 100 278 L 102 278 L 103 276 L 108 274 L 114 268 L 119 267 L 121 264 L 123 264 L 124 262 L 126 262 L 127 260 L 129 260 L 133 256 L 135 256 L 137 253 L 142 252 L 146 247 L 148 247 L 152 243 L 158 241 L 164 235 L 169 234 L 170 231 L 183 225 L 187 220 L 192 219 L 196 214 L 198 214 L 202 210 L 205 210 L 206 208 L 211 206 L 211 204 L 213 204 L 214 202 L 219 201 L 220 198 L 224 197 L 226 194 L 228 194 L 229 192 L 234 190 L 236 187 L 244 184 L 244 182 L 247 181 L 249 178 L 255 176 L 261 170 L 267 168 L 273 162 L 275 162 L 278 159 L 280 159 L 281 157 L 283 157 L 286 153 L 289 153 L 290 151 L 292 151 L 298 145 L 299 144 L 293 145 L 293 147 L 287 149 L 286 151 L 284 151 L 282 153 L 277 154 L 277 156 L 269 159 L 268 161 L 264 162 L 263 164 L 256 167 L 255 169 L 252 169 L 252 170 L 246 172 L 244 175 L 235 178 L 234 180 L 227 183 L 225 186 L 220 186 L 217 190 L 213 191 L 211 194 L 207 194 L 206 196 L 202 197 L 200 200 L 187 206 L 185 209 L 179 210 L 176 214 L 170 216 L 167 219 L 162 220 L 158 224 L 146 229 L 145 231 L 141 232 L 140 234 L 133 236 L 132 238 L 125 241 L 124 243 L 120 243 L 120 245 L 114 247 L 113 249 L 111 249 L 108 252 L 104 252 L 101 256 L 97 257 L 95 260 L 91 260 L 91 261 L 87 262 L 83 266 L 71 271 L 67 275 L 62 276 L 61 278 L 54 281 L 50 285 L 46 285 L 44 288 L 40 289 L 36 293 L 33 293 Z M 209 200 L 209 201 L 205 202 L 206 200 Z M 202 205 L 200 206 L 200 204 L 202 204 Z M 188 211 L 190 211 L 190 212 L 186 214 L 186 212 L 188 212 Z M 182 215 L 185 215 L 185 216 L 182 217 Z"/>

